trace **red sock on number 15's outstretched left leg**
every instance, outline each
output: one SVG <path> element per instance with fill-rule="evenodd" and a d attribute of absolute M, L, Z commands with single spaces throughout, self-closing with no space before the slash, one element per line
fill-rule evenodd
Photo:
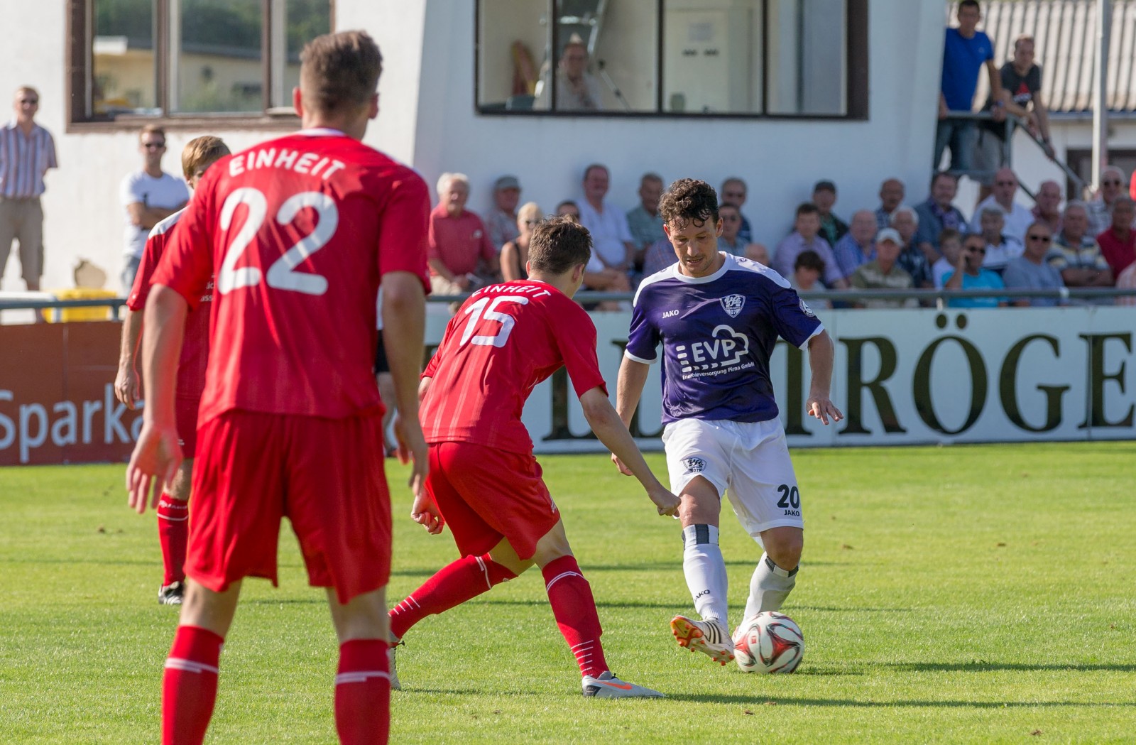
<path fill-rule="evenodd" d="M 448 611 L 454 605 L 477 597 L 494 585 L 517 575 L 484 556 L 462 556 L 442 567 L 423 586 L 407 596 L 391 611 L 391 634 L 401 639 L 411 626 L 427 616 Z"/>

